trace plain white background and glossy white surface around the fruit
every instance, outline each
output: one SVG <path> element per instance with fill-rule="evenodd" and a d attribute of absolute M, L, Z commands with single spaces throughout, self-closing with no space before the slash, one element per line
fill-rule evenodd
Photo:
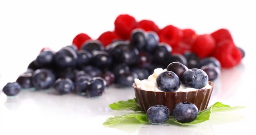
<path fill-rule="evenodd" d="M 16 81 L 43 47 L 58 50 L 78 33 L 93 39 L 114 29 L 117 15 L 128 13 L 138 21 L 153 20 L 160 28 L 173 24 L 198 34 L 219 28 L 230 30 L 246 57 L 232 69 L 222 70 L 211 102 L 246 106 L 246 109 L 211 116 L 195 126 L 170 124 L 101 124 L 111 115 L 107 104 L 134 97 L 131 88 L 106 89 L 103 96 L 56 96 L 51 91 L 22 91 L 16 98 L 0 93 L 0 135 L 112 134 L 112 135 L 221 135 L 254 131 L 256 4 L 253 0 L 0 0 L 0 89 Z"/>

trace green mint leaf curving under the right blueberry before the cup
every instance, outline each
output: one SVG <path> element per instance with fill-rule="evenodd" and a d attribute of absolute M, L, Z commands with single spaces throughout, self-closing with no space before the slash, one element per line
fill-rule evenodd
<path fill-rule="evenodd" d="M 178 122 L 178 121 L 173 117 L 173 115 L 172 115 L 169 119 L 172 120 L 173 122 L 178 123 L 178 124 L 181 124 L 181 125 L 192 125 L 192 124 L 198 124 L 198 123 L 201 123 L 201 122 L 204 122 L 204 121 L 209 120 L 210 114 L 211 114 L 211 108 L 205 109 L 205 110 L 203 110 L 203 111 L 200 111 L 200 112 L 198 113 L 198 117 L 195 118 L 195 120 L 193 120 L 192 122 L 186 122 L 186 123 Z"/>

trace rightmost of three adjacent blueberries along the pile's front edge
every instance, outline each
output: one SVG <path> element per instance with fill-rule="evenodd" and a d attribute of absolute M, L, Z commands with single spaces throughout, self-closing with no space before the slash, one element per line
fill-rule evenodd
<path fill-rule="evenodd" d="M 88 82 L 86 96 L 95 97 L 101 96 L 106 87 L 106 81 L 101 77 L 94 77 Z"/>

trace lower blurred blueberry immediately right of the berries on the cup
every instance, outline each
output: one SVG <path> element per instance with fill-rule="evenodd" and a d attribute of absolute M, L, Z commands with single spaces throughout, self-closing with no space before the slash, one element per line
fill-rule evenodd
<path fill-rule="evenodd" d="M 220 75 L 220 69 L 214 65 L 204 65 L 201 67 L 201 70 L 206 72 L 209 81 L 214 81 Z"/>

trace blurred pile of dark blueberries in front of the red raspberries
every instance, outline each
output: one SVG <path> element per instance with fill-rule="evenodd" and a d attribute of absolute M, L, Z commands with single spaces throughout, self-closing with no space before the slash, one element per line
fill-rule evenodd
<path fill-rule="evenodd" d="M 75 45 L 65 46 L 57 52 L 44 48 L 28 65 L 27 71 L 20 74 L 17 83 L 22 89 L 54 87 L 58 94 L 94 97 L 100 96 L 105 87 L 112 84 L 130 87 L 135 78 L 146 79 L 155 68 L 165 68 L 166 63 L 175 61 L 188 68 L 202 67 L 210 81 L 220 74 L 220 63 L 214 57 L 200 59 L 192 52 L 172 54 L 171 46 L 159 43 L 157 33 L 135 29 L 130 40 L 112 41 L 106 47 L 99 40 L 89 39 L 80 50 Z M 179 71 L 176 68 L 173 72 L 181 79 L 181 73 L 187 68 L 177 68 Z"/>

